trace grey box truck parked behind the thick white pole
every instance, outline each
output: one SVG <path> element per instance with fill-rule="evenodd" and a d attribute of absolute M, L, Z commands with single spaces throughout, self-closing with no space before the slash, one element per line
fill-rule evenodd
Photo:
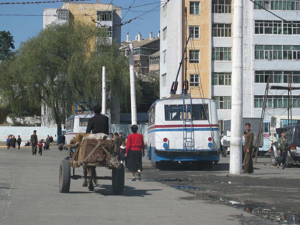
<path fill-rule="evenodd" d="M 256 138 L 259 133 L 259 125 L 260 125 L 260 118 L 243 118 L 243 132 L 246 131 L 244 125 L 246 123 L 251 124 L 251 131 L 254 134 L 254 140 L 253 140 L 253 147 L 256 143 Z M 241 137 L 243 136 L 243 133 L 241 134 Z M 221 134 L 221 156 L 226 157 L 228 154 L 230 154 L 230 138 L 231 138 L 231 119 L 224 120 L 223 121 L 223 137 Z M 259 147 L 263 146 L 263 137 L 261 134 L 261 138 L 259 141 Z"/>

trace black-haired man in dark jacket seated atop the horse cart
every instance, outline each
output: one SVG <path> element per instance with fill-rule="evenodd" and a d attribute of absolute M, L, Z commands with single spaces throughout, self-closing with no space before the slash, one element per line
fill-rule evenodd
<path fill-rule="evenodd" d="M 93 111 L 95 113 L 95 116 L 88 119 L 88 126 L 86 127 L 85 133 L 103 133 L 107 134 L 109 132 L 108 127 L 108 117 L 101 114 L 102 107 L 100 105 L 95 105 L 93 107 Z"/>

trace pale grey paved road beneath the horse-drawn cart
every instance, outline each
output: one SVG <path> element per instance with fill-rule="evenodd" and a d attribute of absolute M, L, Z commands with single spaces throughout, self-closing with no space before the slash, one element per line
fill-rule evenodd
<path fill-rule="evenodd" d="M 111 182 L 102 180 L 94 191 L 71 180 L 70 193 L 59 193 L 58 169 L 66 155 L 55 146 L 42 156 L 32 156 L 30 147 L 0 147 L 1 225 L 273 224 L 226 205 L 187 200 L 193 195 L 160 182 L 132 182 L 130 173 L 125 173 L 123 195 L 113 195 Z M 79 169 L 76 174 L 82 174 Z M 105 168 L 97 172 L 111 175 Z"/>

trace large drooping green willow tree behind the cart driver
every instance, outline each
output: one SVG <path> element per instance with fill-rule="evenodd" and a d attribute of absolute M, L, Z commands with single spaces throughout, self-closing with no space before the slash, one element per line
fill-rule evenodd
<path fill-rule="evenodd" d="M 128 104 L 128 59 L 105 34 L 95 24 L 53 23 L 23 42 L 10 62 L 8 73 L 17 80 L 19 90 L 26 89 L 28 104 L 37 105 L 35 100 L 41 99 L 58 131 L 73 113 L 74 102 L 65 92 L 76 101 L 80 98 L 73 90 L 86 101 L 101 102 L 102 66 L 107 68 L 107 109 L 112 110 L 113 101 L 119 97 L 121 105 Z M 137 93 L 140 98 L 140 91 Z"/>

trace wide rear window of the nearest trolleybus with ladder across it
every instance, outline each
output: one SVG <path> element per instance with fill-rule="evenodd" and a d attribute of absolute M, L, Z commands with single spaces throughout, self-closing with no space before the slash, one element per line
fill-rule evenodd
<path fill-rule="evenodd" d="M 187 110 L 184 112 L 184 119 L 190 119 L 190 105 L 186 105 Z M 182 120 L 183 105 L 165 105 L 165 120 Z M 208 104 L 192 105 L 193 120 L 207 120 Z"/>

